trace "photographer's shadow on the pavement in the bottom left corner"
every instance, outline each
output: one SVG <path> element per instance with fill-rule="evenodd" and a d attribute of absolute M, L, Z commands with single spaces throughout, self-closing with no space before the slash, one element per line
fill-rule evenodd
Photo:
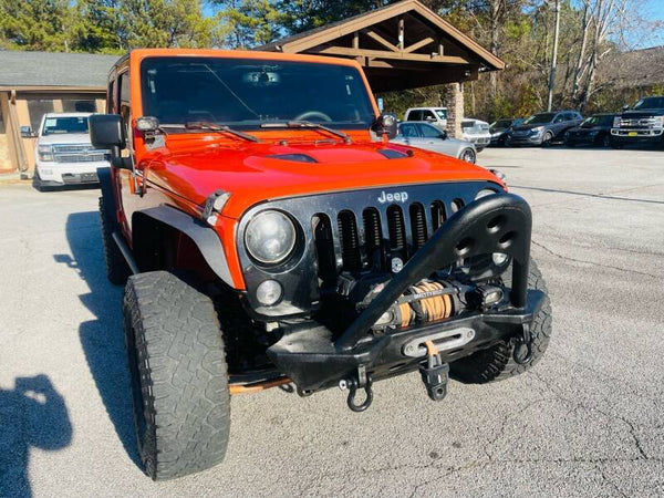
<path fill-rule="evenodd" d="M 0 496 L 30 497 L 30 448 L 54 452 L 72 440 L 63 397 L 46 375 L 17 377 L 0 390 Z"/>

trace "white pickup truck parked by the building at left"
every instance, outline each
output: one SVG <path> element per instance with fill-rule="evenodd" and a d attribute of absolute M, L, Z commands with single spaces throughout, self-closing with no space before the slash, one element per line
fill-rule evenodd
<path fill-rule="evenodd" d="M 97 168 L 108 166 L 108 151 L 90 143 L 91 113 L 46 113 L 37 133 L 21 127 L 23 137 L 37 137 L 34 186 L 46 190 L 64 185 L 96 184 Z"/>

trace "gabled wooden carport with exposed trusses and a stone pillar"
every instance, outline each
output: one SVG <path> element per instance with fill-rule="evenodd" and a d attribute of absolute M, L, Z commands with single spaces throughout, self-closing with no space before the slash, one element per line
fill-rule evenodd
<path fill-rule="evenodd" d="M 355 59 L 374 92 L 449 84 L 448 128 L 460 132 L 463 83 L 505 63 L 417 0 L 283 38 L 258 50 Z"/>

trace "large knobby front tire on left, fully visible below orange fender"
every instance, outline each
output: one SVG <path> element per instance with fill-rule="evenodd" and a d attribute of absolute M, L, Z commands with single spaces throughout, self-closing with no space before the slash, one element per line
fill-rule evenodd
<path fill-rule="evenodd" d="M 173 273 L 154 271 L 129 277 L 123 313 L 145 473 L 170 479 L 219 464 L 230 395 L 212 301 Z"/>

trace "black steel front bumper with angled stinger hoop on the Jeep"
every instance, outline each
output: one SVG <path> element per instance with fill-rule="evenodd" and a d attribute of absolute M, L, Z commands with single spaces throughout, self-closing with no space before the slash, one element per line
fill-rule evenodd
<path fill-rule="evenodd" d="M 528 290 L 530 258 L 530 208 L 513 195 L 494 195 L 456 212 L 396 273 L 371 304 L 338 338 L 324 325 L 304 322 L 291 326 L 268 349 L 279 371 L 302 391 L 331 387 L 350 378 L 363 366 L 373 380 L 405 373 L 423 360 L 407 354 L 407 345 L 433 334 L 470 329 L 471 340 L 442 351 L 452 362 L 486 349 L 501 339 L 522 335 L 543 301 L 540 291 Z M 469 312 L 443 322 L 398 330 L 382 336 L 370 329 L 413 283 L 461 258 L 504 252 L 512 257 L 512 288 L 509 303 L 490 312 Z"/>

